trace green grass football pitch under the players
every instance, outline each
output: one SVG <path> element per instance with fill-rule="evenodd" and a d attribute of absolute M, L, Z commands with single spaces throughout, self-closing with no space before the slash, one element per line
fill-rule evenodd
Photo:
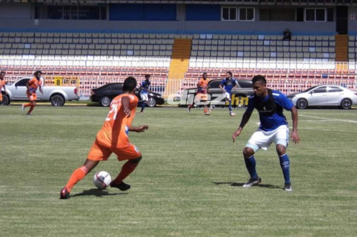
<path fill-rule="evenodd" d="M 243 111 L 147 108 L 130 133 L 143 159 L 126 179 L 132 188 L 100 191 L 97 171 L 115 178 L 111 156 L 72 189 L 59 192 L 81 166 L 107 108 L 1 106 L 0 236 L 355 236 L 357 110 L 299 110 L 300 144 L 290 144 L 293 192 L 273 146 L 255 155 L 262 184 L 248 179 L 242 149 L 257 129 L 253 113 L 232 143 Z M 291 125 L 291 115 L 285 112 Z"/>

